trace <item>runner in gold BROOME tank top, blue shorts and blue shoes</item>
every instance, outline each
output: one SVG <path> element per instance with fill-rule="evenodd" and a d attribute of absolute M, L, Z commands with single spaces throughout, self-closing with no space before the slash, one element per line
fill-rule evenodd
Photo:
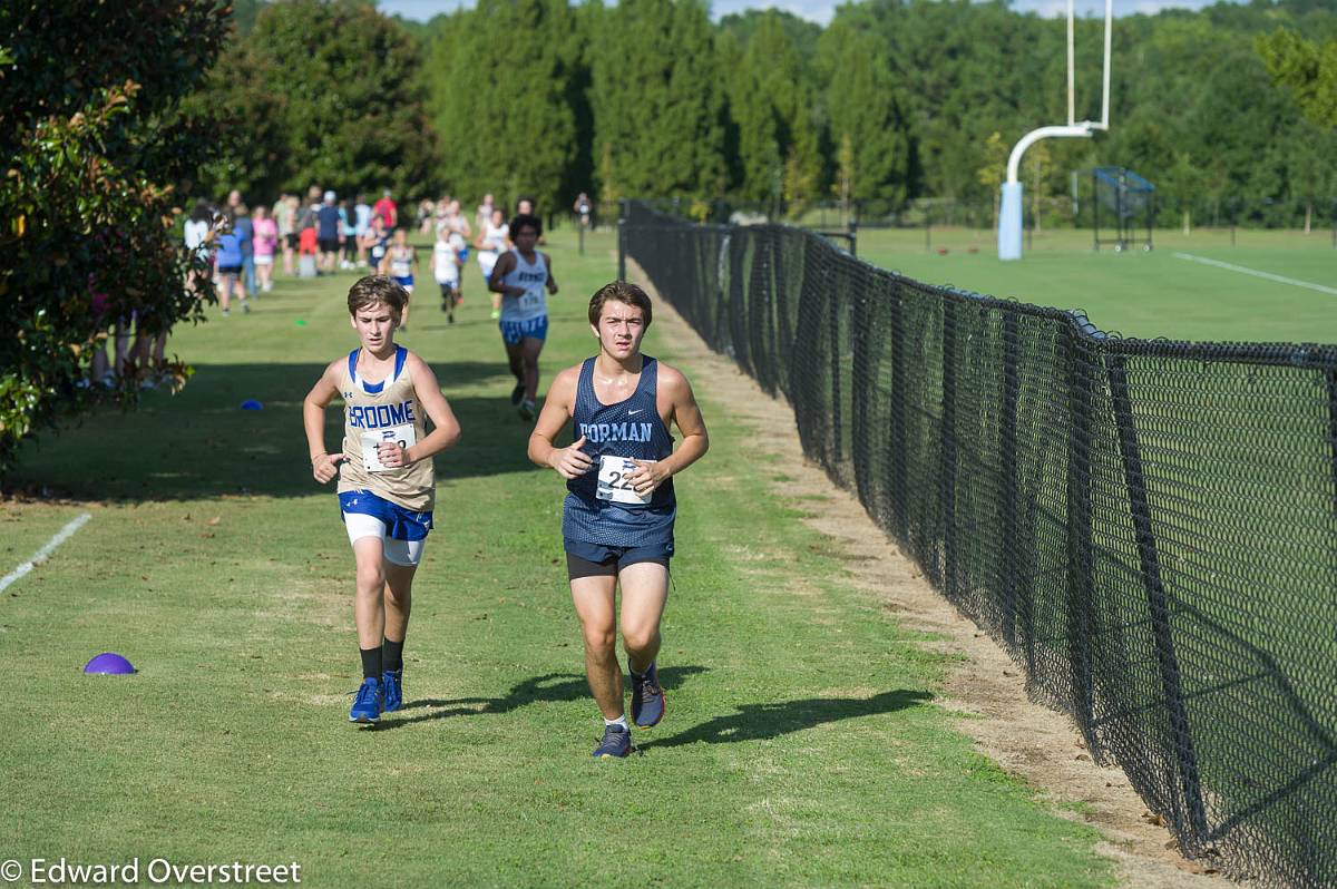
<path fill-rule="evenodd" d="M 312 475 L 321 484 L 338 476 L 340 509 L 357 560 L 353 619 L 362 686 L 348 718 L 361 723 L 402 705 L 413 574 L 436 500 L 432 455 L 460 438 L 432 369 L 394 345 L 406 303 L 404 287 L 389 278 L 354 283 L 348 311 L 361 346 L 332 361 L 302 405 Z M 344 400 L 344 445 L 330 455 L 325 408 L 336 397 Z"/>

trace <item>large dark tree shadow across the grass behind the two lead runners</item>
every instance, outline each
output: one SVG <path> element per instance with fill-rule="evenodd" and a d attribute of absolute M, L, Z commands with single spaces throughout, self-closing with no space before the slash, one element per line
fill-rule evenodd
<path fill-rule="evenodd" d="M 536 471 L 525 456 L 532 424 L 507 396 L 512 377 L 497 362 L 433 362 L 460 420 L 460 444 L 436 457 L 439 481 Z M 312 479 L 302 400 L 322 365 L 202 365 L 176 396 L 148 393 L 134 412 L 104 410 L 27 444 L 9 483 L 87 500 L 194 500 L 229 495 L 308 497 Z M 453 390 L 499 384 L 496 396 Z M 255 400 L 262 410 L 242 410 Z M 325 445 L 337 449 L 344 412 L 325 412 Z"/>

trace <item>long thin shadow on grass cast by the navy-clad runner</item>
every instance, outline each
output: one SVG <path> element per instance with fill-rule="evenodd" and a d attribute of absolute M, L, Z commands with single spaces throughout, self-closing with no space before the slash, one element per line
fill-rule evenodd
<path fill-rule="evenodd" d="M 698 742 L 769 741 L 829 722 L 916 707 L 932 699 L 933 694 L 928 691 L 897 688 L 872 698 L 805 698 L 781 703 L 745 703 L 739 705 L 738 713 L 715 717 L 671 738 L 647 741 L 639 746 L 642 750 L 651 750 Z"/>

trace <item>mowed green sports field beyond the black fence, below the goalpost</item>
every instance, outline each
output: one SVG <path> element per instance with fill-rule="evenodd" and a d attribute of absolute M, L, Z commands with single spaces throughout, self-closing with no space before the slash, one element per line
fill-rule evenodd
<path fill-rule="evenodd" d="M 841 243 L 837 241 L 837 243 Z M 1000 262 L 992 231 L 862 229 L 858 257 L 919 281 L 1058 309 L 1083 309 L 1126 337 L 1337 342 L 1337 294 L 1222 269 L 1241 266 L 1337 289 L 1332 231 L 1199 229 L 1154 233 L 1155 250 L 1091 249 L 1090 230 L 1034 234 L 1016 262 Z M 945 250 L 947 253 L 939 253 Z M 971 253 L 971 251 L 975 253 Z"/>

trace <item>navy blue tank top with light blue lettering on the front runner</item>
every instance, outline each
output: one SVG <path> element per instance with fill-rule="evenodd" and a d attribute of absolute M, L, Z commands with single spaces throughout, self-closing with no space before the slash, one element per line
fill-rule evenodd
<path fill-rule="evenodd" d="M 655 392 L 659 362 L 643 356 L 636 390 L 623 401 L 606 405 L 594 393 L 594 358 L 580 365 L 572 437 L 584 436 L 580 448 L 594 460 L 590 472 L 567 481 L 562 511 L 562 536 L 607 547 L 646 547 L 673 540 L 678 504 L 673 479 L 655 489 L 650 503 L 618 503 L 600 496 L 599 465 L 603 456 L 663 460 L 673 453 L 673 436 L 659 416 Z M 616 481 L 614 481 L 616 484 Z M 607 496 L 607 487 L 603 491 Z"/>

